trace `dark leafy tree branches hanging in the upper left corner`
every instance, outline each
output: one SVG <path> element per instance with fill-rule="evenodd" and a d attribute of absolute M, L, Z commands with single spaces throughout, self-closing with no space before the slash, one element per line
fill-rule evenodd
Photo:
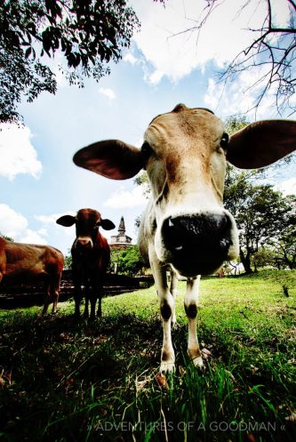
<path fill-rule="evenodd" d="M 139 20 L 126 0 L 4 0 L 0 4 L 0 122 L 18 122 L 17 106 L 55 93 L 46 57 L 61 52 L 69 84 L 99 81 L 131 43 Z"/>

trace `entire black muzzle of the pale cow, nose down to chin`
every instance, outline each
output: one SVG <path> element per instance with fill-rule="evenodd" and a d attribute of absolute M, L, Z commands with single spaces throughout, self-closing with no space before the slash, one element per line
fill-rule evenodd
<path fill-rule="evenodd" d="M 162 237 L 170 263 L 181 275 L 209 275 L 228 258 L 232 223 L 225 213 L 168 217 Z"/>

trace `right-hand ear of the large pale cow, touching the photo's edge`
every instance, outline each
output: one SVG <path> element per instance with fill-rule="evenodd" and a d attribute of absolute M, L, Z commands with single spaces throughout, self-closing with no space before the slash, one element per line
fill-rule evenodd
<path fill-rule="evenodd" d="M 227 159 L 241 169 L 257 169 L 275 163 L 295 149 L 296 121 L 258 121 L 230 137 Z"/>

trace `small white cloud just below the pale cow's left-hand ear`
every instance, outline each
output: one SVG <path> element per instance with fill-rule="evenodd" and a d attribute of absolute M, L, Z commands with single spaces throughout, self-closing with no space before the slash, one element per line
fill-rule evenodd
<path fill-rule="evenodd" d="M 121 186 L 103 205 L 112 209 L 144 207 L 147 205 L 147 199 L 143 197 L 140 186 L 132 190 L 126 190 Z"/>

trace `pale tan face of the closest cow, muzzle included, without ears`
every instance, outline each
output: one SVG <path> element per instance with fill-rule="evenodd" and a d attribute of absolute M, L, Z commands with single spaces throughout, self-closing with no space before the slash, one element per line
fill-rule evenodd
<path fill-rule="evenodd" d="M 236 222 L 223 207 L 227 141 L 212 112 L 184 106 L 145 133 L 156 255 L 185 277 L 212 273 L 238 252 Z"/>

